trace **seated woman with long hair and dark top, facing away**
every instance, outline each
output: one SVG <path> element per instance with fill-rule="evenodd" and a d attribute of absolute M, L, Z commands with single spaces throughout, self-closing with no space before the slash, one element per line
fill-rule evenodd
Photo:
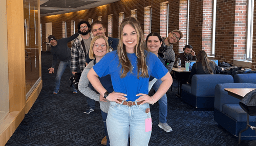
<path fill-rule="evenodd" d="M 198 52 L 197 61 L 193 64 L 191 74 L 188 79 L 188 83 L 191 84 L 193 75 L 204 75 L 204 74 L 220 74 L 222 68 L 219 67 L 214 61 L 207 58 L 205 51 L 201 50 Z"/>

